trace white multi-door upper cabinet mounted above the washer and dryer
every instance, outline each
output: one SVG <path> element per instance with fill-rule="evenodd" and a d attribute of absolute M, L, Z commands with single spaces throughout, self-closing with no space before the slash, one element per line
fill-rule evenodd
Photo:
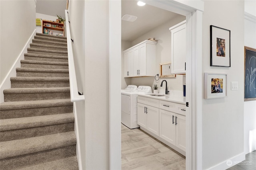
<path fill-rule="evenodd" d="M 145 40 L 123 51 L 124 77 L 155 76 L 156 43 Z"/>

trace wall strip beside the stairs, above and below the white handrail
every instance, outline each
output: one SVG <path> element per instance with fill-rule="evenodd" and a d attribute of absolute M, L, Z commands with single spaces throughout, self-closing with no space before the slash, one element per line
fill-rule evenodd
<path fill-rule="evenodd" d="M 82 94 L 85 92 L 85 25 L 84 25 L 84 1 L 69 1 L 68 16 L 70 20 L 70 34 L 74 39 L 73 55 L 76 68 L 76 79 L 78 84 L 78 91 Z M 82 168 L 86 167 L 86 152 L 85 152 L 85 102 L 76 102 L 77 112 L 77 132 L 79 133 L 80 153 L 81 158 L 79 161 Z M 78 134 L 77 134 L 78 135 Z"/>

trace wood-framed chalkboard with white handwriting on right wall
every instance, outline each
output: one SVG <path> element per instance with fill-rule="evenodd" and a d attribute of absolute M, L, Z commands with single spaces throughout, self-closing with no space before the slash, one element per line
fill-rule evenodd
<path fill-rule="evenodd" d="M 244 47 L 244 101 L 256 100 L 256 49 Z"/>

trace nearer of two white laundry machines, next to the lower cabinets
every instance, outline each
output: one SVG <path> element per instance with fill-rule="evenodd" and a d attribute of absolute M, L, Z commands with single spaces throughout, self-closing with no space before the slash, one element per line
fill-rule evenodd
<path fill-rule="evenodd" d="M 137 96 L 152 93 L 150 86 L 138 86 L 136 90 L 121 91 L 121 123 L 130 129 L 140 127 L 137 124 Z"/>

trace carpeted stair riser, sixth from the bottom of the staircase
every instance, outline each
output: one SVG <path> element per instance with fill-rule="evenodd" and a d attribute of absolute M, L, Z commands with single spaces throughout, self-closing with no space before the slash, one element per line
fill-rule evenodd
<path fill-rule="evenodd" d="M 50 72 L 20 72 L 17 71 L 17 77 L 69 77 L 68 73 L 50 73 Z"/>

